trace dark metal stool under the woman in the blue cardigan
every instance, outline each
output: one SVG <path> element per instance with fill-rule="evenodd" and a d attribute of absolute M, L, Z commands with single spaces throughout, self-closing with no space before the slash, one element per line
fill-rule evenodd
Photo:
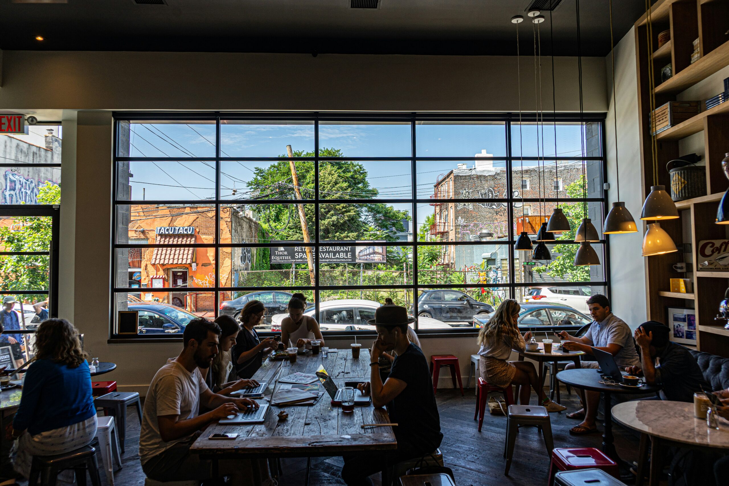
<path fill-rule="evenodd" d="M 31 474 L 28 486 L 37 486 L 40 477 L 42 486 L 55 486 L 58 474 L 66 469 L 74 469 L 76 482 L 79 486 L 86 485 L 86 471 L 89 471 L 91 484 L 101 486 L 101 477 L 98 475 L 96 462 L 96 449 L 92 444 L 79 447 L 71 452 L 55 455 L 34 455 L 31 463 Z"/>

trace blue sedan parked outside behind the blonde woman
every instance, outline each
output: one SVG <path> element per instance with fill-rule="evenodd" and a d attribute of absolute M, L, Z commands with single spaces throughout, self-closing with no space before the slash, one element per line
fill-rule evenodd
<path fill-rule="evenodd" d="M 592 319 L 581 313 L 579 310 L 561 304 L 532 304 L 529 302 L 520 303 L 518 325 L 522 332 L 540 326 L 550 326 L 558 330 L 570 331 L 580 329 L 592 322 Z M 491 318 L 491 315 L 475 315 L 473 317 L 474 327 L 483 327 Z"/>

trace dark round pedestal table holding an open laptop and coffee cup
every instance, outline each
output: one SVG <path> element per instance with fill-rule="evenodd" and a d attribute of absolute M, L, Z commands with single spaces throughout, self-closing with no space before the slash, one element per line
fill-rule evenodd
<path fill-rule="evenodd" d="M 646 385 L 639 388 L 633 388 L 622 385 L 605 385 L 600 383 L 603 380 L 601 373 L 596 369 L 582 368 L 582 369 L 565 369 L 564 371 L 557 373 L 557 380 L 560 380 L 566 385 L 572 385 L 575 388 L 582 388 L 582 390 L 599 391 L 602 393 L 605 402 L 605 421 L 603 426 L 605 431 L 602 434 L 602 452 L 605 452 L 618 463 L 625 466 L 623 460 L 617 455 L 615 450 L 615 444 L 613 444 L 612 436 L 612 415 L 610 415 L 610 396 L 612 393 L 632 393 L 632 394 L 643 394 L 643 393 L 655 393 L 660 390 L 658 385 Z M 693 407 L 693 405 L 692 405 Z"/>

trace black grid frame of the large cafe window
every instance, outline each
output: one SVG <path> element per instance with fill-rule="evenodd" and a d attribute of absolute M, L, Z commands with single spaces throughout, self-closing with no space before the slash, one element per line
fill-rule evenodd
<path fill-rule="evenodd" d="M 410 162 L 410 171 L 411 171 L 411 194 L 409 198 L 399 198 L 399 197 L 375 197 L 372 199 L 367 199 L 367 203 L 383 203 L 383 204 L 409 204 L 412 208 L 410 210 L 410 224 L 412 224 L 412 234 L 413 234 L 413 241 L 389 241 L 386 243 L 388 247 L 402 247 L 402 248 L 412 248 L 413 253 L 413 262 L 418 261 L 418 248 L 424 248 L 427 246 L 479 246 L 484 245 L 485 243 L 480 240 L 453 240 L 453 241 L 443 241 L 443 240 L 430 240 L 430 241 L 418 241 L 417 238 L 417 227 L 418 227 L 418 205 L 426 205 L 426 204 L 432 204 L 432 203 L 453 203 L 454 199 L 452 198 L 452 194 L 447 194 L 448 198 L 434 198 L 434 197 L 420 197 L 418 195 L 418 162 L 434 162 L 434 161 L 463 161 L 463 162 L 472 162 L 474 160 L 474 157 L 427 157 L 427 156 L 421 156 L 417 154 L 416 150 L 416 125 L 426 122 L 426 123 L 436 123 L 436 122 L 476 122 L 476 123 L 482 123 L 482 122 L 501 122 L 503 123 L 504 127 L 504 144 L 506 146 L 506 154 L 499 154 L 498 156 L 494 157 L 483 157 L 481 160 L 494 160 L 499 162 L 504 162 L 506 166 L 506 179 L 507 179 L 507 187 L 522 187 L 523 188 L 523 182 L 520 184 L 521 179 L 516 179 L 516 181 L 512 181 L 512 179 L 515 179 L 518 177 L 518 165 L 515 164 L 515 162 L 523 161 L 523 162 L 534 162 L 534 161 L 543 161 L 545 165 L 548 165 L 550 163 L 554 163 L 555 160 L 559 161 L 576 161 L 580 163 L 588 163 L 590 161 L 599 161 L 601 162 L 601 177 L 602 180 L 606 180 L 606 164 L 605 164 L 605 157 L 602 155 L 604 153 L 602 151 L 602 147 L 604 147 L 604 134 L 603 134 L 603 127 L 602 127 L 602 119 L 604 117 L 602 116 L 595 116 L 590 115 L 589 117 L 585 117 L 585 122 L 590 123 L 596 123 L 599 125 L 600 130 L 600 146 L 601 155 L 595 156 L 595 157 L 585 157 L 585 156 L 575 156 L 575 157 L 542 157 L 542 156 L 529 156 L 529 157 L 518 157 L 518 155 L 512 155 L 512 124 L 515 124 L 519 121 L 519 118 L 514 114 L 484 114 L 484 115 L 460 115 L 460 114 L 443 114 L 443 115 L 432 115 L 432 114 L 382 114 L 382 115 L 374 115 L 374 114 L 308 114 L 302 116 L 301 114 L 233 114 L 233 113 L 214 113 L 214 114 L 201 114 L 201 113 L 190 113 L 190 114 L 169 114 L 169 113 L 150 113 L 150 114 L 139 114 L 139 113 L 117 113 L 115 114 L 116 119 L 116 130 L 115 130 L 115 152 L 114 152 L 114 211 L 113 211 L 113 228 L 114 228 L 114 235 L 112 235 L 112 254 L 114 255 L 112 258 L 114 259 L 114 273 L 112 274 L 112 305 L 110 306 L 112 309 L 110 320 L 112 322 L 112 329 L 111 329 L 111 337 L 112 338 L 139 338 L 144 336 L 121 336 L 119 334 L 116 334 L 116 327 L 115 327 L 115 314 L 117 310 L 117 294 L 126 294 L 130 292 L 130 289 L 125 286 L 119 286 L 118 285 L 118 279 L 117 279 L 117 270 L 116 270 L 116 264 L 117 264 L 117 251 L 125 251 L 130 250 L 132 248 L 134 249 L 140 249 L 141 251 L 144 251 L 145 249 L 149 248 L 212 248 L 214 249 L 214 275 L 215 275 L 215 281 L 213 286 L 201 288 L 199 286 L 175 286 L 175 287 L 162 287 L 155 289 L 155 291 L 178 291 L 178 292 L 206 292 L 213 294 L 214 298 L 214 310 L 217 315 L 217 310 L 219 309 L 219 303 L 221 299 L 221 292 L 245 292 L 245 291 L 260 291 L 260 286 L 231 286 L 222 285 L 221 282 L 221 274 L 220 274 L 220 262 L 221 262 L 221 252 L 229 251 L 232 254 L 233 248 L 274 248 L 281 246 L 281 243 L 220 243 L 220 213 L 221 208 L 225 207 L 226 205 L 230 205 L 231 200 L 225 199 L 221 196 L 221 164 L 223 162 L 229 162 L 229 161 L 246 161 L 246 162 L 279 162 L 281 161 L 281 157 L 226 157 L 224 154 L 222 154 L 221 151 L 221 120 L 247 120 L 247 121 L 260 121 L 260 122 L 275 122 L 276 120 L 280 120 L 281 122 L 288 121 L 300 121 L 300 122 L 313 122 L 313 140 L 314 140 L 314 157 L 284 157 L 284 160 L 292 160 L 295 162 L 313 162 L 314 167 L 314 174 L 313 174 L 313 198 L 308 197 L 305 193 L 304 198 L 302 200 L 292 200 L 292 199 L 266 199 L 266 200 L 246 200 L 246 205 L 249 205 L 251 207 L 255 207 L 257 205 L 272 205 L 272 204 L 279 204 L 279 205 L 292 205 L 295 204 L 304 204 L 304 205 L 313 205 L 314 208 L 314 220 L 313 220 L 313 231 L 310 230 L 312 238 L 311 243 L 303 243 L 303 242 L 297 242 L 294 243 L 296 246 L 299 247 L 310 247 L 312 248 L 312 254 L 314 259 L 314 283 L 313 285 L 282 285 L 282 286 L 276 286 L 272 287 L 271 290 L 284 290 L 284 291 L 313 291 L 315 295 L 319 295 L 319 292 L 321 291 L 334 291 L 334 290 L 343 290 L 347 289 L 350 291 L 366 291 L 366 290 L 377 290 L 377 289 L 402 289 L 404 291 L 412 291 L 412 299 L 414 299 L 415 302 L 413 302 L 413 310 L 411 310 L 414 313 L 417 313 L 417 299 L 419 291 L 423 291 L 426 289 L 502 289 L 502 291 L 507 292 L 507 294 L 504 295 L 504 297 L 521 297 L 526 291 L 526 287 L 534 286 L 534 283 L 529 282 L 523 282 L 518 281 L 517 269 L 515 268 L 515 264 L 512 259 L 508 259 L 508 267 L 504 268 L 503 270 L 507 271 L 508 273 L 508 281 L 507 282 L 499 282 L 499 283 L 422 283 L 421 281 L 418 281 L 418 264 L 413 264 L 411 268 L 411 275 L 412 275 L 412 283 L 404 283 L 404 284 L 381 284 L 381 285 L 357 285 L 357 284 L 349 284 L 346 286 L 343 285 L 324 285 L 321 283 L 320 280 L 320 266 L 319 266 L 319 251 L 316 251 L 317 248 L 320 246 L 328 245 L 330 243 L 328 242 L 322 242 L 320 240 L 320 227 L 319 227 L 319 213 L 320 213 L 320 206 L 324 204 L 353 204 L 353 203 L 361 203 L 362 199 L 353 199 L 353 198 L 346 198 L 346 199 L 335 199 L 335 198 L 324 198 L 320 197 L 319 194 L 319 164 L 320 162 L 325 161 L 354 161 L 354 162 L 367 162 L 367 161 L 393 161 L 393 162 Z M 120 142 L 120 125 L 122 123 L 128 123 L 128 122 L 141 122 L 144 120 L 165 120 L 174 122 L 175 120 L 187 120 L 188 122 L 206 122 L 206 123 L 214 123 L 215 126 L 215 157 L 128 157 L 126 154 L 120 154 L 119 152 L 119 142 Z M 524 123 L 532 123 L 537 122 L 537 119 L 534 117 L 534 115 L 521 115 L 521 120 Z M 580 119 L 578 117 L 575 117 L 574 115 L 566 115 L 566 116 L 560 116 L 557 115 L 554 119 L 552 117 L 548 117 L 545 114 L 543 122 L 545 125 L 551 124 L 554 120 L 556 120 L 559 123 L 563 122 L 570 122 L 575 123 L 579 122 Z M 410 157 L 350 157 L 350 156 L 342 156 L 342 157 L 324 157 L 320 156 L 320 144 L 319 144 L 319 123 L 322 122 L 352 122 L 352 123 L 361 123 L 361 122 L 406 122 L 410 125 L 410 136 L 411 136 L 411 150 L 412 154 Z M 155 160 L 157 162 L 167 162 L 167 161 L 184 161 L 184 162 L 207 162 L 208 165 L 214 165 L 215 170 L 215 197 L 214 199 L 206 199 L 206 200 L 128 200 L 120 198 L 120 193 L 124 191 L 123 188 L 120 188 L 119 184 L 119 170 L 120 170 L 120 163 L 123 164 L 125 162 L 148 162 L 149 160 Z M 126 170 L 126 168 L 125 168 Z M 549 184 L 550 179 L 547 179 L 545 176 L 545 179 L 542 181 L 543 185 L 547 186 L 547 189 L 545 189 L 545 195 L 552 189 L 550 186 L 552 184 Z M 534 184 L 534 183 L 532 183 Z M 561 189 L 561 188 L 560 188 Z M 594 204 L 598 203 L 599 205 L 599 211 L 601 211 L 603 214 L 607 213 L 607 190 L 600 190 L 599 191 L 600 197 L 580 197 L 577 199 L 572 199 L 571 202 L 580 202 L 580 203 L 593 203 L 593 206 L 590 208 L 594 208 Z M 518 216 L 521 216 L 519 208 L 515 208 L 515 203 L 518 203 L 520 205 L 523 205 L 524 203 L 528 205 L 539 205 L 539 203 L 555 203 L 558 201 L 561 201 L 564 203 L 565 197 L 560 197 L 559 200 L 555 197 L 513 197 L 512 192 L 504 193 L 504 196 L 506 197 L 462 197 L 457 199 L 457 202 L 459 204 L 484 204 L 484 203 L 496 203 L 496 204 L 503 204 L 507 208 L 507 221 L 508 222 L 516 222 L 518 219 Z M 118 230 L 118 222 L 117 218 L 117 208 L 121 205 L 211 205 L 214 206 L 214 213 L 215 213 L 215 234 L 217 235 L 214 243 L 184 243 L 184 244 L 174 244 L 174 243 L 161 243 L 161 244 L 141 244 L 141 243 L 120 243 L 120 235 L 117 235 Z M 456 222 L 452 222 L 451 224 L 456 224 Z M 507 224 L 507 235 L 505 235 L 507 238 L 505 240 L 500 241 L 489 241 L 488 245 L 491 246 L 503 246 L 507 248 L 507 251 L 509 254 L 513 254 L 513 245 L 515 243 L 515 237 L 518 235 L 515 235 L 515 226 L 516 224 Z M 123 239 L 123 238 L 122 238 Z M 561 241 L 559 242 L 561 244 L 566 245 L 576 245 L 577 243 L 574 243 L 572 241 Z M 602 248 L 602 261 L 604 262 L 603 271 L 601 273 L 601 280 L 597 281 L 580 281 L 580 282 L 573 282 L 573 281 L 555 281 L 550 282 L 550 286 L 576 286 L 576 285 L 588 285 L 588 286 L 601 286 L 605 289 L 607 294 L 609 294 L 609 261 L 608 261 L 608 248 L 607 248 L 607 240 L 603 239 L 601 240 L 601 245 L 599 245 Z M 503 292 L 502 292 L 503 293 Z M 319 299 L 315 299 L 316 302 L 316 315 L 319 315 Z M 418 324 L 415 324 L 416 329 Z M 424 329 L 418 329 L 418 332 L 421 334 L 443 334 L 443 331 L 440 330 L 424 330 Z M 461 333 L 467 333 L 467 332 L 474 332 L 473 329 L 448 329 L 447 334 L 461 334 Z M 332 333 L 330 333 L 332 334 Z M 353 334 L 371 334 L 371 332 L 346 332 L 347 335 L 353 335 Z M 151 337 L 151 336 L 146 336 Z M 155 337 L 159 337 L 158 335 Z"/>

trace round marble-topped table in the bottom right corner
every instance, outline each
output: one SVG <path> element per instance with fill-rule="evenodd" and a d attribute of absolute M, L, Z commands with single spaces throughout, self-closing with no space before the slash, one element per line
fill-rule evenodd
<path fill-rule="evenodd" d="M 623 426 L 641 433 L 637 485 L 643 481 L 643 468 L 650 452 L 650 485 L 658 486 L 667 446 L 698 450 L 729 450 L 729 421 L 719 419 L 719 430 L 706 426 L 705 419 L 694 418 L 693 403 L 684 401 L 636 400 L 612 407 L 612 417 Z"/>

